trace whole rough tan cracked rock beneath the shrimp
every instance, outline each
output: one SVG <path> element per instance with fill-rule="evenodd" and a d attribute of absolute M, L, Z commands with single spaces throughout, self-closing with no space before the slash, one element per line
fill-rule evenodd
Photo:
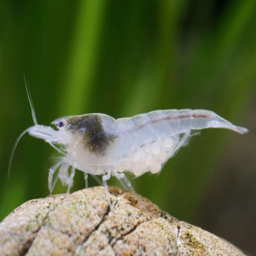
<path fill-rule="evenodd" d="M 0 224 L 0 255 L 237 255 L 240 250 L 161 211 L 141 197 L 109 187 L 22 204 Z"/>

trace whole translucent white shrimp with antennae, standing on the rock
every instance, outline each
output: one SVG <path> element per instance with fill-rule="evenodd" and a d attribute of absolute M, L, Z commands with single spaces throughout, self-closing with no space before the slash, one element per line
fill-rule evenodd
<path fill-rule="evenodd" d="M 75 169 L 79 169 L 84 172 L 86 184 L 88 174 L 103 175 L 110 207 L 106 181 L 111 176 L 117 177 L 123 186 L 129 187 L 139 200 L 123 172 L 130 172 L 135 176 L 146 172 L 159 173 L 168 159 L 186 145 L 191 133 L 212 127 L 240 134 L 248 133 L 246 128 L 235 126 L 212 111 L 190 109 L 157 110 L 117 120 L 106 114 L 67 116 L 51 123 L 58 129 L 54 130 L 37 124 L 27 85 L 26 88 L 35 125 L 23 131 L 16 140 L 10 165 L 16 144 L 28 132 L 45 140 L 62 154 L 49 171 L 48 186 L 51 194 L 58 178 L 67 186 L 69 193 Z M 53 174 L 57 169 L 58 174 L 53 181 Z M 139 202 L 142 204 L 140 200 Z"/>

